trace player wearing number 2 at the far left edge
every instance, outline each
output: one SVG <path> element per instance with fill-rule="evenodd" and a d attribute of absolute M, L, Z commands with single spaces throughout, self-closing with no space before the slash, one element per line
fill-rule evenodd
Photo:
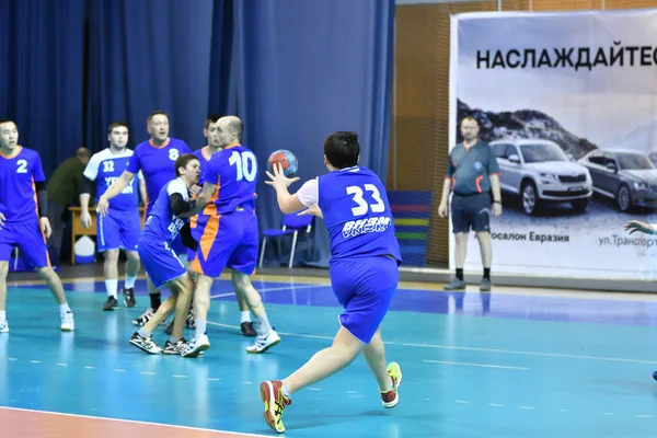
<path fill-rule="evenodd" d="M 47 217 L 46 176 L 38 152 L 19 145 L 13 120 L 0 120 L 0 333 L 9 332 L 7 321 L 7 274 L 14 246 L 36 266 L 39 276 L 59 304 L 60 328 L 76 328 L 59 276 L 50 266 L 46 239 L 50 237 Z"/>

